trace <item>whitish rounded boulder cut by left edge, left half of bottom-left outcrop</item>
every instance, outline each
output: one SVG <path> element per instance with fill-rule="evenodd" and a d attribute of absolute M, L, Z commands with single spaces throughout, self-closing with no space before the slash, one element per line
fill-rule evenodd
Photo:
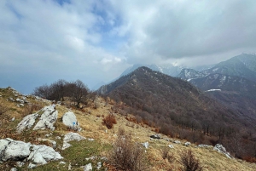
<path fill-rule="evenodd" d="M 9 140 L 8 140 L 9 141 Z M 2 161 L 18 161 L 23 160 L 30 154 L 30 144 L 19 140 L 9 141 L 2 153 Z"/>

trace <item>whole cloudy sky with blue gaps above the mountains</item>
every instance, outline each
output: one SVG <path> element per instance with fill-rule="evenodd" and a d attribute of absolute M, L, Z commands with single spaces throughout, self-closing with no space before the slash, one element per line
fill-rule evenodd
<path fill-rule="evenodd" d="M 0 88 L 94 88 L 134 64 L 216 64 L 255 53 L 255 17 L 254 0 L 1 0 Z"/>

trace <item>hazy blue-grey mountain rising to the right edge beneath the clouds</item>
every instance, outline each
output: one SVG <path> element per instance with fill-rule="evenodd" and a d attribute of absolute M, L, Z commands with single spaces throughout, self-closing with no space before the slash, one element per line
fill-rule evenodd
<path fill-rule="evenodd" d="M 206 75 L 219 73 L 229 76 L 244 77 L 256 82 L 256 55 L 240 54 L 202 72 Z"/>

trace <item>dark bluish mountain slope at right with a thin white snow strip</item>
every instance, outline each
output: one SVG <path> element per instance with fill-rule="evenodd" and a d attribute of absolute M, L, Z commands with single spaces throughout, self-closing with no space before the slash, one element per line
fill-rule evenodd
<path fill-rule="evenodd" d="M 240 112 L 245 119 L 256 122 L 256 83 L 243 77 L 210 74 L 189 80 L 197 88 L 207 91 L 216 100 Z M 219 91 L 213 91 L 219 90 Z"/>

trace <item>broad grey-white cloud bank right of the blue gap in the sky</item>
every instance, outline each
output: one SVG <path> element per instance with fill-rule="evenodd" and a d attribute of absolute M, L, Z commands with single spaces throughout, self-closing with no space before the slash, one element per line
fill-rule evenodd
<path fill-rule="evenodd" d="M 125 47 L 131 63 L 154 56 L 163 60 L 205 58 L 255 51 L 253 1 L 112 2 L 125 20 L 116 32 L 131 35 Z"/>

